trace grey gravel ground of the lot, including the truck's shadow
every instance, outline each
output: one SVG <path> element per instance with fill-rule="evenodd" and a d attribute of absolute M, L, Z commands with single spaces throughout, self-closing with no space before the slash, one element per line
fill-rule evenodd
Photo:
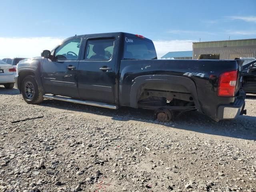
<path fill-rule="evenodd" d="M 29 105 L 0 86 L 0 191 L 253 192 L 256 95 L 246 109 L 218 123 L 198 112 L 160 123 L 148 110 Z"/>

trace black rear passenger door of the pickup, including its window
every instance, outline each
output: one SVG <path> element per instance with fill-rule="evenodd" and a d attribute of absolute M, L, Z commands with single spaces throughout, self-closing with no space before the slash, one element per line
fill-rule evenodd
<path fill-rule="evenodd" d="M 84 100 L 114 103 L 118 37 L 86 35 L 78 66 L 78 92 Z"/>

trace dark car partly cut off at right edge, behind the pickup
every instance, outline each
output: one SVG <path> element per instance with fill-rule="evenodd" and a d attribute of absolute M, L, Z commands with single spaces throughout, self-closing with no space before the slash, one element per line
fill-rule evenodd
<path fill-rule="evenodd" d="M 246 93 L 256 94 L 256 60 L 243 66 L 243 87 Z"/>

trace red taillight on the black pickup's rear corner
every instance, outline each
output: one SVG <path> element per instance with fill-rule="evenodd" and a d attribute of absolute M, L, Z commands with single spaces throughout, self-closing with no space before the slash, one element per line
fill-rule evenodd
<path fill-rule="evenodd" d="M 237 81 L 237 70 L 220 74 L 218 82 L 218 96 L 234 97 Z"/>

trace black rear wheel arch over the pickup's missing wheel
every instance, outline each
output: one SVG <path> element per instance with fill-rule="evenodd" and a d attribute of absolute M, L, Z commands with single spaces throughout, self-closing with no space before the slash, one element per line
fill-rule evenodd
<path fill-rule="evenodd" d="M 131 107 L 141 107 L 138 106 L 138 101 L 140 101 L 142 93 L 145 91 L 152 92 L 152 96 L 154 96 L 154 94 L 158 94 L 157 96 L 159 96 L 162 100 L 163 98 L 170 100 L 170 98 L 172 98 L 174 96 L 173 94 L 175 93 L 181 98 L 175 98 L 175 102 L 179 102 L 180 100 L 182 100 L 182 102 L 189 102 L 190 104 L 193 104 L 193 107 L 196 108 L 199 112 L 202 112 L 198 101 L 196 84 L 192 79 L 188 77 L 173 75 L 145 75 L 136 77 L 130 92 Z M 190 95 L 193 101 L 191 101 Z M 190 106 L 182 106 L 181 108 L 188 107 Z"/>

